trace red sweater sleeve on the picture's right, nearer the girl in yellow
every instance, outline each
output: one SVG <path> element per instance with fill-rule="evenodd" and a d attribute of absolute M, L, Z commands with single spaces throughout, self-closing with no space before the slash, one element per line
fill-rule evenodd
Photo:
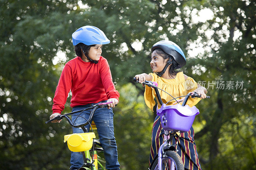
<path fill-rule="evenodd" d="M 110 68 L 108 65 L 108 61 L 105 58 L 102 61 L 101 66 L 100 66 L 100 77 L 101 77 L 102 84 L 105 88 L 107 98 L 108 99 L 115 98 L 118 100 L 120 95 L 115 88 L 115 85 L 112 80 Z"/>

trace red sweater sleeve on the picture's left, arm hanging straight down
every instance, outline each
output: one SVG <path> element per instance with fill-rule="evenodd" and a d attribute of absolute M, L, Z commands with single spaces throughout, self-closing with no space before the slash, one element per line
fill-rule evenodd
<path fill-rule="evenodd" d="M 60 80 L 54 94 L 52 113 L 61 114 L 64 109 L 64 105 L 68 98 L 68 92 L 70 92 L 72 84 L 71 73 L 71 68 L 66 64 L 61 72 Z"/>

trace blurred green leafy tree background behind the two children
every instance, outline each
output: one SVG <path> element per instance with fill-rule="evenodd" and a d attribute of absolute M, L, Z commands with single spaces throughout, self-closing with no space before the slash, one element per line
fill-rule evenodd
<path fill-rule="evenodd" d="M 68 169 L 66 121 L 44 122 L 72 33 L 99 27 L 120 93 L 114 108 L 121 170 L 147 169 L 154 113 L 136 74 L 149 73 L 160 40 L 180 46 L 180 71 L 207 88 L 193 127 L 203 169 L 256 169 L 254 0 L 0 0 L 0 168 Z M 71 93 L 66 108 L 69 107 Z"/>

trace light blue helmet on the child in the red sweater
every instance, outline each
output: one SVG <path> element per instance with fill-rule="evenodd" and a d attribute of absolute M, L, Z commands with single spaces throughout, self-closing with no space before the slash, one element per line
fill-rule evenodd
<path fill-rule="evenodd" d="M 110 41 L 99 28 L 95 26 L 82 26 L 72 34 L 73 45 L 84 43 L 85 45 L 108 44 Z"/>

